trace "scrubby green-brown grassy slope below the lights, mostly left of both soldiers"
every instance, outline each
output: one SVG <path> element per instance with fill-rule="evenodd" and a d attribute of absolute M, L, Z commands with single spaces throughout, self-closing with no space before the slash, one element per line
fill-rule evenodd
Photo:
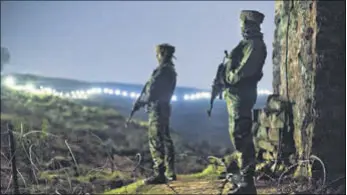
<path fill-rule="evenodd" d="M 62 192 L 69 189 L 67 192 L 71 193 L 73 188 L 70 185 L 83 186 L 84 192 L 102 192 L 128 184 L 133 177 L 150 174 L 146 124 L 133 123 L 125 129 L 124 117 L 112 108 L 85 106 L 80 102 L 2 89 L 3 162 L 6 162 L 8 153 L 7 136 L 3 133 L 9 121 L 15 125 L 18 168 L 25 178 L 25 182 L 20 180 L 20 183 L 22 187 L 27 185 L 27 192 L 52 192 L 57 187 Z M 39 133 L 28 134 L 33 130 Z M 178 153 L 178 172 L 202 170 L 204 163 L 198 157 L 187 157 L 193 151 L 182 143 L 179 136 L 174 134 L 173 139 Z M 78 163 L 76 168 L 65 140 Z M 32 174 L 29 153 L 37 167 L 35 175 Z M 129 170 L 135 166 L 136 153 L 142 154 L 143 161 L 141 167 L 132 173 Z M 113 172 L 111 164 L 114 164 Z M 6 177 L 6 173 L 9 176 L 8 166 L 2 163 L 1 171 L 5 173 L 1 178 L 4 184 L 1 189 L 4 190 L 9 179 Z"/>

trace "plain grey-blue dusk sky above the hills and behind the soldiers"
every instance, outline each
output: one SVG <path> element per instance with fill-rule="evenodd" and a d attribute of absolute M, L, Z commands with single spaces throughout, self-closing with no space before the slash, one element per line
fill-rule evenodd
<path fill-rule="evenodd" d="M 256 9 L 268 56 L 259 89 L 272 90 L 273 1 L 1 1 L 5 72 L 144 83 L 154 47 L 176 46 L 178 85 L 209 88 L 223 50 L 241 39 L 239 14 Z"/>

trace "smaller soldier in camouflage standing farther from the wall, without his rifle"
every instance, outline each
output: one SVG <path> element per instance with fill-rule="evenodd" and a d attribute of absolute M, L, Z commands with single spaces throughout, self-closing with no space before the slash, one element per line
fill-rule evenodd
<path fill-rule="evenodd" d="M 169 44 L 156 47 L 159 66 L 153 71 L 145 87 L 149 113 L 149 150 L 155 171 L 155 175 L 145 181 L 147 184 L 176 179 L 174 146 L 169 132 L 170 101 L 176 87 L 177 76 L 172 63 L 174 52 L 175 48 Z"/>

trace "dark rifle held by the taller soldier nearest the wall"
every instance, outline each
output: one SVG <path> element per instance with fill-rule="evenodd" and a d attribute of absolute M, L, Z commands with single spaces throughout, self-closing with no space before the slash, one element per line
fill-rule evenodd
<path fill-rule="evenodd" d="M 224 57 L 223 57 L 223 61 L 221 64 L 219 64 L 218 69 L 217 69 L 217 74 L 216 77 L 213 80 L 213 84 L 212 84 L 212 92 L 211 92 L 211 99 L 210 99 L 210 108 L 207 110 L 207 115 L 209 117 L 211 117 L 211 112 L 212 112 L 212 108 L 213 108 L 213 102 L 214 99 L 219 96 L 219 99 L 222 99 L 222 92 L 223 92 L 223 88 L 224 88 L 224 83 L 222 83 L 221 81 L 224 79 L 224 72 L 225 72 L 225 58 L 228 57 L 228 51 L 224 50 Z"/>

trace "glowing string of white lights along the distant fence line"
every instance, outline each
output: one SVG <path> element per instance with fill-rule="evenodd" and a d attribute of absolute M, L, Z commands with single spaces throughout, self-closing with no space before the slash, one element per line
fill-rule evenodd
<path fill-rule="evenodd" d="M 68 92 L 59 92 L 55 89 L 43 86 L 35 86 L 33 84 L 27 83 L 25 85 L 16 84 L 16 79 L 12 76 L 7 76 L 4 79 L 4 85 L 14 90 L 24 91 L 34 94 L 47 94 L 59 96 L 61 98 L 71 98 L 71 99 L 88 99 L 93 95 L 113 95 L 125 98 L 136 99 L 140 96 L 140 93 L 134 91 L 127 91 L 121 89 L 111 89 L 111 88 L 91 88 L 87 90 L 73 90 Z M 268 90 L 259 90 L 258 95 L 269 95 L 271 94 Z M 182 97 L 177 95 L 172 96 L 172 101 L 184 100 L 184 101 L 193 101 L 201 99 L 209 99 L 211 97 L 210 92 L 197 92 L 193 94 L 185 94 Z"/>

